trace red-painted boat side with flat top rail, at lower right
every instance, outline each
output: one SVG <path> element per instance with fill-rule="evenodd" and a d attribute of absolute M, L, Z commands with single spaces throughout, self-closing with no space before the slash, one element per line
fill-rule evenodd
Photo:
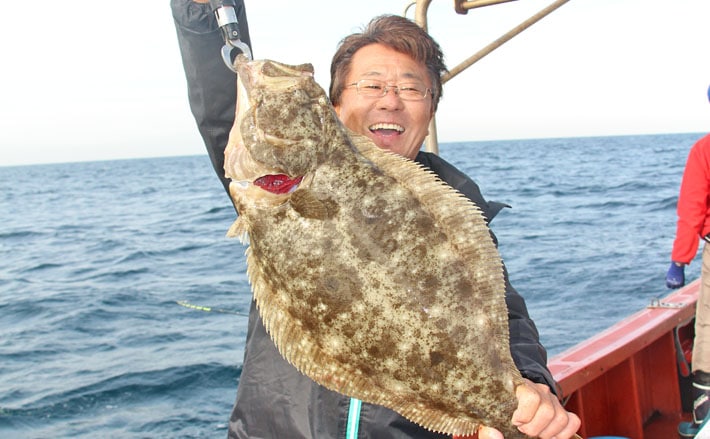
<path fill-rule="evenodd" d="M 678 437 L 689 385 L 678 364 L 692 346 L 699 287 L 695 281 L 550 359 L 583 437 Z"/>

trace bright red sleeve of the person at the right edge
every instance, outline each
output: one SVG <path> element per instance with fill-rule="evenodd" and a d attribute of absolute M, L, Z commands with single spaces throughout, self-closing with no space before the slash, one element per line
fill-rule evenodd
<path fill-rule="evenodd" d="M 671 259 L 690 263 L 698 252 L 710 196 L 710 136 L 698 141 L 688 154 L 678 197 L 678 223 Z"/>

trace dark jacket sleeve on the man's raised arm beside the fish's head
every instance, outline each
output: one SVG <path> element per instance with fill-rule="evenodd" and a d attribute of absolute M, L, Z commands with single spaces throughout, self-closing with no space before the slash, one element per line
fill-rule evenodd
<path fill-rule="evenodd" d="M 251 47 L 246 10 L 236 0 L 235 12 L 241 40 Z M 224 177 L 224 148 L 234 123 L 236 75 L 222 60 L 224 40 L 209 3 L 171 0 L 173 20 L 182 57 L 192 115 L 215 172 L 229 194 Z"/>

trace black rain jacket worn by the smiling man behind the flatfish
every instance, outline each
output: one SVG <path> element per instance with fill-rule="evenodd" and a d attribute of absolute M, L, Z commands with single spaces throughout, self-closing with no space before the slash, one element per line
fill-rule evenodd
<path fill-rule="evenodd" d="M 241 0 L 236 3 L 241 39 L 251 46 L 244 4 Z M 209 5 L 171 0 L 171 7 L 190 108 L 215 172 L 227 189 L 224 148 L 234 122 L 235 76 L 222 61 L 220 48 L 224 42 Z M 416 160 L 476 203 L 487 221 L 504 206 L 487 202 L 476 183 L 440 157 L 420 152 Z M 525 300 L 510 285 L 507 272 L 505 281 L 510 348 L 515 364 L 524 377 L 545 383 L 554 392 L 555 383 L 546 367 L 547 354 Z M 345 438 L 349 406 L 349 397 L 316 384 L 281 357 L 252 302 L 237 400 L 229 420 L 229 438 Z M 387 408 L 362 404 L 358 437 L 448 436 L 427 431 Z"/>

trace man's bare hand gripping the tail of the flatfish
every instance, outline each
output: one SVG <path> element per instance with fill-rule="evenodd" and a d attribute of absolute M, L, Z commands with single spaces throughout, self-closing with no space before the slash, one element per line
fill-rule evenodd
<path fill-rule="evenodd" d="M 513 412 L 512 422 L 526 435 L 540 439 L 569 439 L 579 430 L 581 422 L 577 415 L 565 410 L 547 385 L 526 379 L 515 389 L 515 396 L 518 408 Z M 481 427 L 478 439 L 504 438 L 498 430 Z"/>

